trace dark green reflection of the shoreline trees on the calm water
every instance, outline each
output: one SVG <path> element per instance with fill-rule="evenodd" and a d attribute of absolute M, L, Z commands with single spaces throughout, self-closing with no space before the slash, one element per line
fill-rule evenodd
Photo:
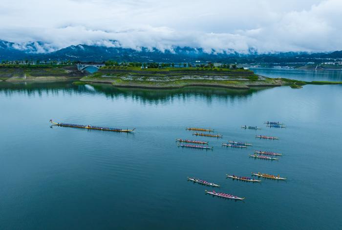
<path fill-rule="evenodd" d="M 86 84 L 74 85 L 72 82 L 51 82 L 51 83 L 0 83 L 0 92 L 5 96 L 11 96 L 14 92 L 27 96 L 42 97 L 43 94 L 58 95 L 62 94 L 103 94 L 107 98 L 115 99 L 118 97 L 131 98 L 134 101 L 143 103 L 158 103 L 173 101 L 174 99 L 186 100 L 189 97 L 206 98 L 211 102 L 213 98 L 218 99 L 247 99 L 258 91 L 265 90 L 267 87 L 253 89 L 226 89 L 218 87 L 191 86 L 179 89 L 139 89 L 139 88 L 117 88 L 107 84 Z"/>

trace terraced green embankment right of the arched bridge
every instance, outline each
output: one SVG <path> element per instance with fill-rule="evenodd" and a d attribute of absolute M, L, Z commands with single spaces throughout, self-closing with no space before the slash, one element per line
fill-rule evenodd
<path fill-rule="evenodd" d="M 216 86 L 248 89 L 253 86 L 282 85 L 279 80 L 257 76 L 250 70 L 193 67 L 141 69 L 139 67 L 106 66 L 95 74 L 82 78 L 81 81 L 139 88 Z"/>

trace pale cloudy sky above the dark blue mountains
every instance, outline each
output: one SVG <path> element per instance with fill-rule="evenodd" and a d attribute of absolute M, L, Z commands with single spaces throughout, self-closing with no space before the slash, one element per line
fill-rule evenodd
<path fill-rule="evenodd" d="M 342 50 L 342 0 L 0 0 L 0 5 L 0 40 L 41 41 L 42 52 L 77 44 L 240 53 Z"/>

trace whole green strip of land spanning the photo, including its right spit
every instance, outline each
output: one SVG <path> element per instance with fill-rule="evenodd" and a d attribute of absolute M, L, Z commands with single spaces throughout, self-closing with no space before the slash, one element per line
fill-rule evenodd
<path fill-rule="evenodd" d="M 162 67 L 105 65 L 95 73 L 76 65 L 0 65 L 0 80 L 6 82 L 73 81 L 74 84 L 111 84 L 115 87 L 172 89 L 186 86 L 250 89 L 305 84 L 342 84 L 342 82 L 304 82 L 286 78 L 268 78 L 247 68 Z"/>

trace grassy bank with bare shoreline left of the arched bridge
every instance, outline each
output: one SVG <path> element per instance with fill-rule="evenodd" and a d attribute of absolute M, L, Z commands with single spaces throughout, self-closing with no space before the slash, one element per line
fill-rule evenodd
<path fill-rule="evenodd" d="M 84 76 L 75 65 L 0 64 L 0 80 L 7 82 L 64 81 Z"/>

